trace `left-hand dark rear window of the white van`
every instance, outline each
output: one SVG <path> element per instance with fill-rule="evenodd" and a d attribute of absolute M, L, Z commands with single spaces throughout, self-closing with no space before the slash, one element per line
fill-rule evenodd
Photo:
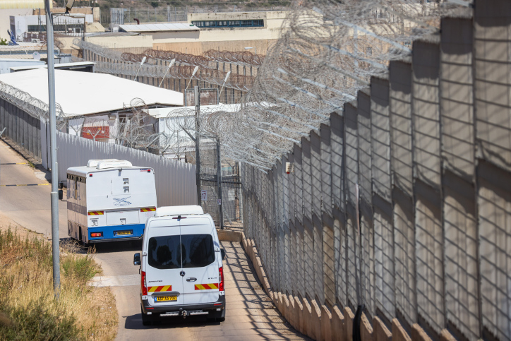
<path fill-rule="evenodd" d="M 179 236 L 152 237 L 149 239 L 148 263 L 157 269 L 181 268 Z"/>

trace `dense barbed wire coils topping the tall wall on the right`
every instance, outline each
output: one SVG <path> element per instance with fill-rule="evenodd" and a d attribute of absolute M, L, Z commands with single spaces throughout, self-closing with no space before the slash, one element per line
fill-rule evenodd
<path fill-rule="evenodd" d="M 270 169 L 293 143 L 355 100 L 371 76 L 386 77 L 390 60 L 409 59 L 414 39 L 438 33 L 442 12 L 418 0 L 302 1 L 240 111 L 219 111 L 200 124 L 220 136 L 222 154 Z"/>

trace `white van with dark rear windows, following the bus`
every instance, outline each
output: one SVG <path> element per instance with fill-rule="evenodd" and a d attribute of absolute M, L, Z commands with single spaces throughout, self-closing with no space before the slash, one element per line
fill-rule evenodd
<path fill-rule="evenodd" d="M 157 208 L 145 223 L 140 265 L 142 322 L 164 316 L 225 319 L 225 288 L 217 230 L 198 205 Z"/>

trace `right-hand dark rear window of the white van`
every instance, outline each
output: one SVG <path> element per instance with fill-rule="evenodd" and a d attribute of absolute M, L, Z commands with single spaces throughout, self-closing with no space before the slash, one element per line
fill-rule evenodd
<path fill-rule="evenodd" d="M 181 235 L 183 268 L 202 268 L 215 261 L 215 247 L 211 234 Z"/>

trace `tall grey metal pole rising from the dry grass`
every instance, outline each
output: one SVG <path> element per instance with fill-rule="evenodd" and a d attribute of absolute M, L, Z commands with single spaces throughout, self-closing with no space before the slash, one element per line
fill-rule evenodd
<path fill-rule="evenodd" d="M 59 173 L 56 165 L 56 116 L 55 116 L 55 61 L 53 47 L 53 18 L 49 11 L 49 0 L 44 0 L 46 8 L 46 47 L 48 55 L 48 107 L 49 107 L 49 144 L 52 161 L 52 255 L 53 255 L 53 289 L 55 297 L 60 291 L 60 243 L 59 243 Z"/>

